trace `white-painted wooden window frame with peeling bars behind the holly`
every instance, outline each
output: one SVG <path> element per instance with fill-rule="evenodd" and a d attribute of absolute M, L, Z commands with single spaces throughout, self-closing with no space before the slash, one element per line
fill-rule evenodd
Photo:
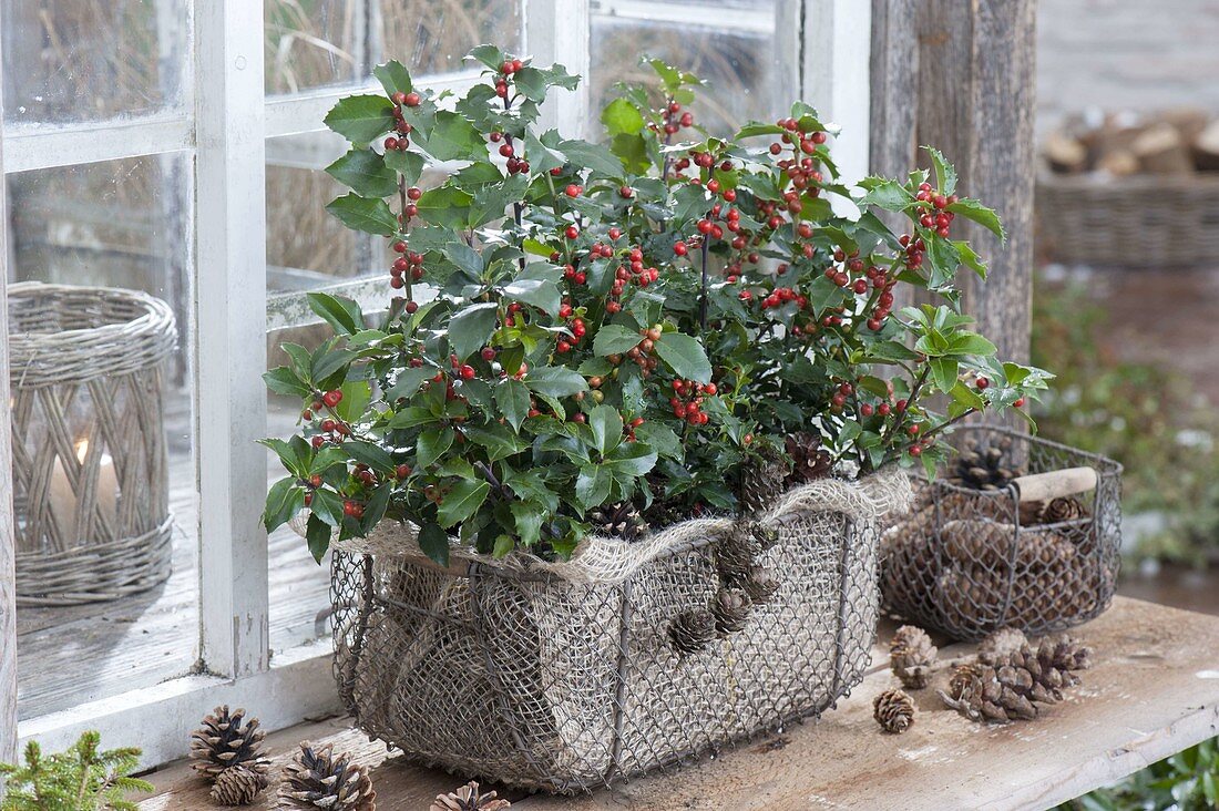
<path fill-rule="evenodd" d="M 523 0 L 525 48 L 542 63 L 562 62 L 589 73 L 594 15 L 640 20 L 689 20 L 689 4 L 663 0 Z M 697 10 L 696 10 L 697 11 Z M 791 65 L 791 96 L 808 95 L 823 113 L 847 127 L 839 140 L 848 178 L 867 171 L 870 4 L 863 0 L 777 0 L 768 22 L 752 11 L 724 11 L 714 0 L 698 18 L 773 24 L 777 46 Z M 666 16 L 668 15 L 668 17 Z M 9 481 L 10 432 L 0 429 L 0 759 L 38 740 L 61 749 L 84 729 L 115 744 L 140 731 L 144 762 L 179 757 L 195 718 L 221 702 L 257 706 L 267 728 L 339 709 L 323 639 L 277 654 L 268 649 L 267 538 L 261 528 L 266 455 L 255 440 L 267 432 L 261 374 L 268 328 L 307 323 L 300 294 L 273 296 L 266 288 L 266 139 L 323 129 L 322 118 L 344 87 L 293 96 L 263 95 L 263 9 L 258 0 L 195 0 L 193 98 L 189 111 L 121 122 L 74 126 L 11 124 L 0 133 L 0 177 L 55 166 L 182 151 L 195 156 L 191 317 L 196 346 L 195 452 L 200 510 L 199 651 L 206 674 L 16 721 L 16 604 L 13 529 Z M 2 21 L 0 21 L 2 26 Z M 429 87 L 468 87 L 477 73 L 424 79 Z M 377 89 L 379 91 L 379 88 Z M 193 95 L 191 95 L 193 94 Z M 584 90 L 544 110 L 545 126 L 573 135 L 590 129 Z M 0 184 L 0 211 L 4 187 Z M 7 272 L 0 221 L 0 426 L 10 424 L 7 396 Z M 383 279 L 328 287 L 379 295 Z M 374 287 L 375 285 L 375 287 Z"/>

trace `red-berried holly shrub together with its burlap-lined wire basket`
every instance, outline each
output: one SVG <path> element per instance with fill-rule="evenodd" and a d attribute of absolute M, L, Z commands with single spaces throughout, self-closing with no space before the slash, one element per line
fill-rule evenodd
<path fill-rule="evenodd" d="M 561 791 L 820 712 L 868 661 L 901 468 L 1045 387 L 958 311 L 985 267 L 953 220 L 997 218 L 934 151 L 847 189 L 801 102 L 709 137 L 653 61 L 589 143 L 536 127 L 561 66 L 471 56 L 463 96 L 391 62 L 327 117 L 386 310 L 312 295 L 335 337 L 267 374 L 304 410 L 266 524 L 336 550 L 344 699 L 411 757 Z"/>

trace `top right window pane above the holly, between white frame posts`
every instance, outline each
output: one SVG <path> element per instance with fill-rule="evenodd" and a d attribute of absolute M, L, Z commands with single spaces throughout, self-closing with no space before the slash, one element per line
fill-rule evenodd
<path fill-rule="evenodd" d="M 713 134 L 727 134 L 746 120 L 764 121 L 780 115 L 778 99 L 789 83 L 775 41 L 774 0 L 737 4 L 750 11 L 733 16 L 707 4 L 680 5 L 689 9 L 678 16 L 689 21 L 706 18 L 736 24 L 731 29 L 716 29 L 695 22 L 672 22 L 670 15 L 659 13 L 656 20 L 594 16 L 590 71 L 594 111 L 600 113 L 613 98 L 616 82 L 655 83 L 652 70 L 638 62 L 638 56 L 646 54 L 708 83 L 698 91 L 694 113 Z M 786 70 L 791 71 L 790 66 Z"/>

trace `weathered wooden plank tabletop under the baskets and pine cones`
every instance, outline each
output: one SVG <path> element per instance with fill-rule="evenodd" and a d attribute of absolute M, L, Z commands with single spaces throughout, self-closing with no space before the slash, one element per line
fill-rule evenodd
<path fill-rule="evenodd" d="M 891 631 L 883 628 L 881 638 Z M 872 699 L 896 678 L 878 648 L 863 683 L 817 723 L 589 796 L 501 796 L 523 811 L 1048 809 L 1219 734 L 1219 617 L 1118 598 L 1074 635 L 1092 646 L 1092 668 L 1067 700 L 1032 722 L 986 727 L 944 707 L 935 688 L 946 685 L 953 661 L 973 652 L 972 645 L 952 645 L 941 650 L 931 685 L 913 693 L 914 726 L 903 735 L 883 734 Z M 277 761 L 301 739 L 333 740 L 374 766 L 382 811 L 427 809 L 439 791 L 463 782 L 396 762 L 345 720 L 268 737 Z M 150 779 L 158 789 L 140 804 L 145 811 L 215 807 L 180 762 Z M 272 809 L 272 796 L 250 807 Z"/>

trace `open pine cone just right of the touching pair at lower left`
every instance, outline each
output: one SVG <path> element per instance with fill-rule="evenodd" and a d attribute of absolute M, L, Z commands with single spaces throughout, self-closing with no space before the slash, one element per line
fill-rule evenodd
<path fill-rule="evenodd" d="M 346 755 L 334 756 L 334 744 L 313 749 L 305 741 L 284 767 L 279 807 L 375 811 L 377 791 L 363 766 L 352 763 Z"/>

